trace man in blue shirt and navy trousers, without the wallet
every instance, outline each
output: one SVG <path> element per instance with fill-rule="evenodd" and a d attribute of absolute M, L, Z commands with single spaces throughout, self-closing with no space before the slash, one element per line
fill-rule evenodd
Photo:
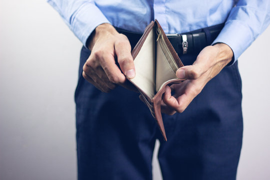
<path fill-rule="evenodd" d="M 242 140 L 236 60 L 269 24 L 268 0 L 48 2 L 84 44 L 75 91 L 78 179 L 151 179 L 155 139 L 163 179 L 235 179 Z M 176 76 L 187 79 L 162 98 L 167 142 L 138 94 L 124 88 L 125 75 L 136 75 L 130 51 L 154 19 L 165 33 L 182 34 L 170 40 L 185 65 Z M 179 45 L 185 35 L 187 49 Z"/>

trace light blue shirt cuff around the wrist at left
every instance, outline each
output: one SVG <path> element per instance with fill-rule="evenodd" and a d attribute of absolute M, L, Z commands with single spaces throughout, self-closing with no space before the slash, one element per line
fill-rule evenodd
<path fill-rule="evenodd" d="M 96 26 L 110 23 L 93 3 L 84 3 L 74 14 L 70 29 L 86 47 L 86 40 Z"/>

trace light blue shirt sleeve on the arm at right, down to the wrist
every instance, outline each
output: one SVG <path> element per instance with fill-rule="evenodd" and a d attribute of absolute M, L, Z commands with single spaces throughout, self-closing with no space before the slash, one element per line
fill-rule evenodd
<path fill-rule="evenodd" d="M 212 44 L 222 42 L 233 51 L 233 64 L 270 23 L 270 0 L 238 0 Z"/>

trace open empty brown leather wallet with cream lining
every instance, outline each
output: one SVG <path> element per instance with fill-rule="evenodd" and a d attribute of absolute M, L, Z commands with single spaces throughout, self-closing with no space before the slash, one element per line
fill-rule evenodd
<path fill-rule="evenodd" d="M 146 26 L 131 54 L 136 76 L 127 79 L 140 92 L 167 141 L 160 109 L 162 95 L 166 85 L 184 80 L 178 79 L 175 74 L 183 64 L 157 20 Z"/>

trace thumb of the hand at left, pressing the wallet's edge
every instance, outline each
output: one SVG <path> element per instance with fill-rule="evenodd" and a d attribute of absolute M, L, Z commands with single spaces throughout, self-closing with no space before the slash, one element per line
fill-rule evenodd
<path fill-rule="evenodd" d="M 122 72 L 128 77 L 135 77 L 135 66 L 133 58 L 131 56 L 131 46 L 127 37 L 123 34 L 121 40 L 117 40 L 114 43 L 115 53 L 117 55 L 117 61 L 120 65 Z"/>

